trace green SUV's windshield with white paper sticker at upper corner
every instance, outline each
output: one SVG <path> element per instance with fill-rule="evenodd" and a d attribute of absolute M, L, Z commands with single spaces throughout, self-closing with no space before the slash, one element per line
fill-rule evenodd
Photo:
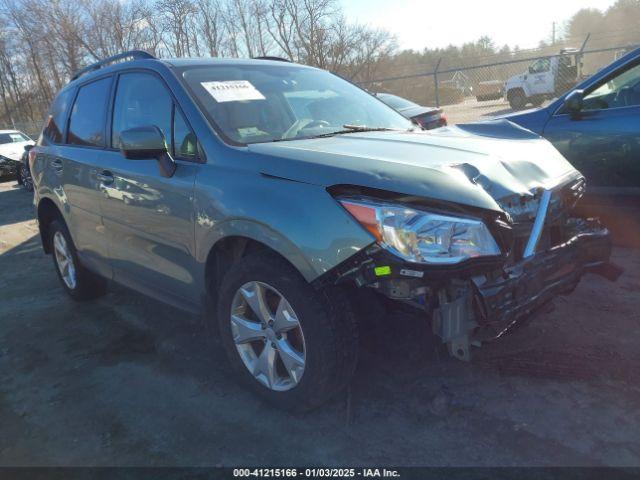
<path fill-rule="evenodd" d="M 220 65 L 187 67 L 182 75 L 218 131 L 234 144 L 331 135 L 345 128 L 413 126 L 364 90 L 323 70 Z"/>

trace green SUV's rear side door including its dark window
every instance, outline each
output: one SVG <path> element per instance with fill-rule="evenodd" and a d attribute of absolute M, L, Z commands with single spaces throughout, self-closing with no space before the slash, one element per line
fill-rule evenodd
<path fill-rule="evenodd" d="M 50 167 L 62 179 L 57 192 L 68 208 L 67 224 L 82 262 L 106 277 L 107 239 L 100 212 L 98 172 L 104 161 L 111 76 L 81 85 L 73 99 L 66 140 L 48 149 Z"/>

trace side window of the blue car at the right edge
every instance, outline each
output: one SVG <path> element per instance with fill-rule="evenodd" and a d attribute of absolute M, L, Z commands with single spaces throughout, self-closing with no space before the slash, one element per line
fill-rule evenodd
<path fill-rule="evenodd" d="M 640 105 L 640 64 L 610 78 L 584 97 L 584 110 Z"/>

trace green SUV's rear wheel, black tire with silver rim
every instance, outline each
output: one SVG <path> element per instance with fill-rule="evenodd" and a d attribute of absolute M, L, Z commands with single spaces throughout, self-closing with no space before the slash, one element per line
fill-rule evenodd
<path fill-rule="evenodd" d="M 77 301 L 103 295 L 106 280 L 82 266 L 65 223 L 59 219 L 53 220 L 48 231 L 53 264 L 62 288 Z"/>

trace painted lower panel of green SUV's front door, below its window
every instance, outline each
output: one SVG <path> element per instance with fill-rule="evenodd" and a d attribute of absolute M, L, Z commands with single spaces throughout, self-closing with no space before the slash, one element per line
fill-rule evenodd
<path fill-rule="evenodd" d="M 200 165 L 179 162 L 165 178 L 155 160 L 104 155 L 113 181 L 101 184 L 100 207 L 114 279 L 197 302 L 193 186 Z"/>

